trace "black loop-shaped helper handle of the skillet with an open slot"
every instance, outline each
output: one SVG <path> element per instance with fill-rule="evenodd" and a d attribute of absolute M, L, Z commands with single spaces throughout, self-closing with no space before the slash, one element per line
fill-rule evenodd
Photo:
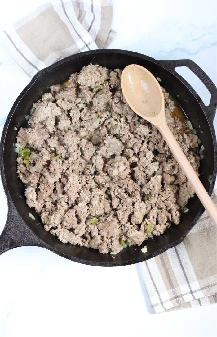
<path fill-rule="evenodd" d="M 206 117 L 209 122 L 213 123 L 213 119 L 216 113 L 216 100 L 217 100 L 217 92 L 216 86 L 209 78 L 209 76 L 201 69 L 194 61 L 192 60 L 169 60 L 169 61 L 159 61 L 159 64 L 172 72 L 185 86 L 190 89 L 193 95 L 196 97 L 200 105 L 202 106 Z M 209 90 L 211 94 L 210 104 L 206 106 L 202 101 L 201 97 L 198 96 L 196 91 L 190 86 L 190 84 L 181 76 L 179 75 L 175 68 L 176 67 L 188 67 L 205 85 L 205 87 Z"/>

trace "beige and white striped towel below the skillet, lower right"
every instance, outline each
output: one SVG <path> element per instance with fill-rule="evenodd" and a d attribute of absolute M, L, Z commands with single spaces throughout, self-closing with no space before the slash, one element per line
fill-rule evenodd
<path fill-rule="evenodd" d="M 217 303 L 216 243 L 205 211 L 182 243 L 139 264 L 153 313 Z"/>

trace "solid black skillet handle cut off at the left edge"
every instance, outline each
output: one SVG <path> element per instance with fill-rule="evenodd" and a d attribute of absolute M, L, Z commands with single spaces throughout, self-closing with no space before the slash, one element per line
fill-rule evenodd
<path fill-rule="evenodd" d="M 22 246 L 45 247 L 41 239 L 27 226 L 8 198 L 6 224 L 0 235 L 0 254 L 9 249 Z"/>

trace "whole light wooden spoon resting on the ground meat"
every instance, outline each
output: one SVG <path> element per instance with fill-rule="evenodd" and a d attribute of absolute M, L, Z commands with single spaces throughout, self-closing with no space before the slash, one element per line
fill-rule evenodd
<path fill-rule="evenodd" d="M 123 69 L 120 83 L 123 95 L 131 109 L 160 131 L 195 193 L 217 226 L 215 205 L 167 125 L 164 95 L 158 81 L 146 68 L 138 64 L 130 64 Z"/>

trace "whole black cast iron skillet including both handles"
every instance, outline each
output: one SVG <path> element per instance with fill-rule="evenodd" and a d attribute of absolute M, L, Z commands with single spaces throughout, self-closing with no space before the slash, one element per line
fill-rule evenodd
<path fill-rule="evenodd" d="M 172 224 L 164 235 L 145 241 L 147 253 L 141 247 L 128 247 L 111 258 L 110 254 L 100 254 L 92 248 L 63 244 L 46 232 L 37 213 L 31 209 L 36 220 L 28 216 L 30 211 L 24 197 L 24 184 L 17 178 L 16 155 L 13 143 L 17 131 L 26 126 L 25 115 L 29 114 L 32 104 L 49 90 L 49 86 L 68 80 L 72 72 L 80 71 L 89 63 L 100 64 L 108 68 L 124 68 L 137 63 L 159 77 L 161 85 L 177 100 L 186 112 L 193 127 L 205 147 L 205 158 L 201 161 L 200 179 L 211 195 L 216 178 L 216 137 L 213 118 L 216 111 L 216 87 L 206 73 L 191 60 L 157 61 L 148 56 L 124 50 L 96 50 L 69 56 L 40 70 L 15 100 L 4 125 L 1 137 L 1 178 L 8 202 L 8 216 L 0 236 L 0 253 L 11 248 L 33 245 L 44 247 L 72 261 L 94 266 L 124 266 L 144 261 L 179 244 L 204 212 L 202 204 L 195 196 L 188 203 L 189 212 L 182 215 L 179 225 Z M 193 88 L 175 71 L 177 66 L 187 66 L 205 84 L 211 93 L 209 106 L 205 106 Z M 177 96 L 178 95 L 178 96 Z M 200 125 L 200 127 L 199 127 Z M 202 133 L 203 132 L 203 133 Z M 211 184 L 208 177 L 212 175 Z"/>

